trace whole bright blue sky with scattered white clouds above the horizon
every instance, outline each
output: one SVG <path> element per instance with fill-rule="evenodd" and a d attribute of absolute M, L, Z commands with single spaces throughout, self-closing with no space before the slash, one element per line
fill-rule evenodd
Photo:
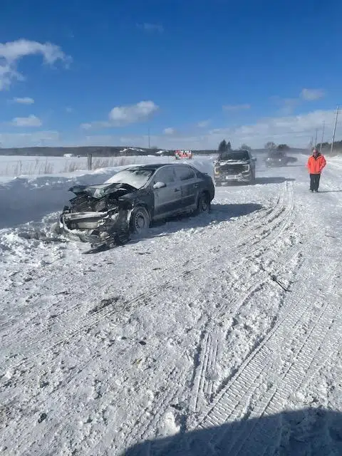
<path fill-rule="evenodd" d="M 158 147 L 303 146 L 323 120 L 330 140 L 341 14 L 338 0 L 2 0 L 1 145 L 146 146 L 150 129 Z"/>

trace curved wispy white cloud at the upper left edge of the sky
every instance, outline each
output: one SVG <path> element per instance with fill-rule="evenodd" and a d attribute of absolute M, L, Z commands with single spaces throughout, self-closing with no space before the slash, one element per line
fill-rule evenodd
<path fill-rule="evenodd" d="M 15 80 L 24 81 L 24 76 L 16 70 L 17 63 L 25 56 L 37 54 L 41 54 L 43 60 L 49 65 L 62 61 L 68 66 L 71 62 L 71 57 L 66 56 L 56 44 L 25 39 L 0 43 L 0 90 L 9 88 Z"/>

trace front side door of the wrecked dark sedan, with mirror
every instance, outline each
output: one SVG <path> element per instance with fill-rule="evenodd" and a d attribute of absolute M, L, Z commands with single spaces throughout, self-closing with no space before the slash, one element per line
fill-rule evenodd
<path fill-rule="evenodd" d="M 166 187 L 153 189 L 155 199 L 154 219 L 169 217 L 182 209 L 182 190 L 175 175 L 175 165 L 161 167 L 152 178 L 151 185 L 165 183 Z"/>

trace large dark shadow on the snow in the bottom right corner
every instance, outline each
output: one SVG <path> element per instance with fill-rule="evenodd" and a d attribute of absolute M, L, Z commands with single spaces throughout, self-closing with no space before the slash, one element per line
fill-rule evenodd
<path fill-rule="evenodd" d="M 322 408 L 284 411 L 149 440 L 130 447 L 123 455 L 342 455 L 342 414 Z"/>

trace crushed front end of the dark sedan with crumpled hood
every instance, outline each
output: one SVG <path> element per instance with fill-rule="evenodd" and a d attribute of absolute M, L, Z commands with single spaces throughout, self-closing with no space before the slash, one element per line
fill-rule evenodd
<path fill-rule="evenodd" d="M 60 217 L 63 234 L 92 247 L 111 247 L 130 237 L 133 199 L 122 198 L 137 189 L 127 184 L 75 185 L 69 191 L 76 197 L 65 206 Z"/>

